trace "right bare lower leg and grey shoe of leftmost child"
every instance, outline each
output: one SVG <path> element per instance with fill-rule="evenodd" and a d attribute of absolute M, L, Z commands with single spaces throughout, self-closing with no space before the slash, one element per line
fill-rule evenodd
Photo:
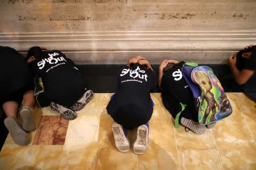
<path fill-rule="evenodd" d="M 30 90 L 23 95 L 23 107 L 20 111 L 22 117 L 22 128 L 26 131 L 34 131 L 36 129 L 35 120 L 32 116 L 32 108 L 35 104 L 34 91 Z"/>

